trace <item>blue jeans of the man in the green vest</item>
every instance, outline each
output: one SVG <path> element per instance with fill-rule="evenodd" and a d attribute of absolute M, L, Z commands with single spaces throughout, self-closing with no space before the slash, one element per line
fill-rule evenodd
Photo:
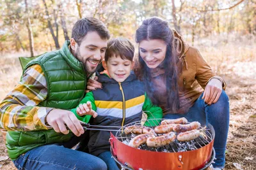
<path fill-rule="evenodd" d="M 44 145 L 29 150 L 13 160 L 17 169 L 107 169 L 104 161 L 63 145 Z"/>

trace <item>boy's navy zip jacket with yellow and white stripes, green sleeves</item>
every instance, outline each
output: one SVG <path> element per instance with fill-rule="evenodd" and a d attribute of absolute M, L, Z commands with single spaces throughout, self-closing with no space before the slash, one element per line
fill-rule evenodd
<path fill-rule="evenodd" d="M 145 111 L 148 120 L 163 117 L 161 108 L 151 103 L 145 94 L 143 83 L 137 80 L 133 71 L 122 83 L 109 78 L 106 74 L 100 74 L 98 81 L 102 83 L 103 88 L 88 92 L 80 103 L 90 101 L 92 109 L 98 113 L 98 116 L 92 120 L 93 125 L 124 126 L 141 120 L 142 111 Z M 79 120 L 89 122 L 90 115 L 79 117 L 76 109 L 72 111 Z M 156 125 L 159 122 L 152 120 L 145 125 L 149 124 Z M 102 152 L 109 151 L 109 136 L 108 131 L 91 131 L 88 143 L 89 152 L 98 156 Z"/>

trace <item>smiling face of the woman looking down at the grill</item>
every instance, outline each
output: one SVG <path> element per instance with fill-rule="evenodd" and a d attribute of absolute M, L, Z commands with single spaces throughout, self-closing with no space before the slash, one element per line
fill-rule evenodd
<path fill-rule="evenodd" d="M 151 69 L 163 62 L 167 45 L 162 39 L 143 40 L 139 43 L 140 56 Z"/>

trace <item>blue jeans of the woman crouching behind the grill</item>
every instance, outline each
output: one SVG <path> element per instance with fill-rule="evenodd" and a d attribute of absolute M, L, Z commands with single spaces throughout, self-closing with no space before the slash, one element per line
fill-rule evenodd
<path fill-rule="evenodd" d="M 164 115 L 164 118 L 186 117 L 189 122 L 198 121 L 202 125 L 210 123 L 215 131 L 214 149 L 216 151 L 216 160 L 212 165 L 213 167 L 223 168 L 229 127 L 229 99 L 224 90 L 222 90 L 218 101 L 211 105 L 205 103 L 202 97 L 203 94 L 189 108 L 188 113 L 184 115 L 167 114 Z"/>

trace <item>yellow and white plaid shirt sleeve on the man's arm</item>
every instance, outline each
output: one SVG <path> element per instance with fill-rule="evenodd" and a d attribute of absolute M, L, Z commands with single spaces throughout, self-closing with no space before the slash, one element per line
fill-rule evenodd
<path fill-rule="evenodd" d="M 42 67 L 33 65 L 0 103 L 0 127 L 8 131 L 48 129 L 45 117 L 53 108 L 37 106 L 46 97 L 47 83 Z"/>

